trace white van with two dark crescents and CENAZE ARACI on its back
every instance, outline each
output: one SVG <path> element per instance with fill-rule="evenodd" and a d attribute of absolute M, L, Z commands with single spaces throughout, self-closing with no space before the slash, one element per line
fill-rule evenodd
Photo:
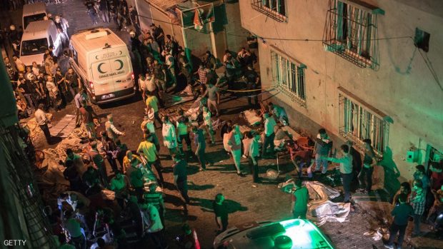
<path fill-rule="evenodd" d="M 134 96 L 134 71 L 129 51 L 110 29 L 79 31 L 71 36 L 72 67 L 94 103 Z"/>

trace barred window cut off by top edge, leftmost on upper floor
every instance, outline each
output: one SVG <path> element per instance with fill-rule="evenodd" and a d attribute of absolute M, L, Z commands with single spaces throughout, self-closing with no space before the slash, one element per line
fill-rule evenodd
<path fill-rule="evenodd" d="M 270 18 L 284 22 L 286 21 L 286 0 L 251 0 L 252 9 L 259 11 Z"/>

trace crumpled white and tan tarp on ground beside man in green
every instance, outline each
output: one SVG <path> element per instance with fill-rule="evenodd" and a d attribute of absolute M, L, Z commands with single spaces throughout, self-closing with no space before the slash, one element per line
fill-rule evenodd
<path fill-rule="evenodd" d="M 305 181 L 304 185 L 309 191 L 308 215 L 317 219 L 317 225 L 327 221 L 344 222 L 351 210 L 351 203 L 334 203 L 330 199 L 337 198 L 339 191 L 318 181 Z M 294 188 L 294 179 L 280 183 L 278 188 L 286 193 L 291 193 Z"/>

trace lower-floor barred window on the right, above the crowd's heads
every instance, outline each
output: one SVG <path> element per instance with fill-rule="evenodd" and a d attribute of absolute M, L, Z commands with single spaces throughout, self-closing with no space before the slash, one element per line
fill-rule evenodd
<path fill-rule="evenodd" d="M 364 148 L 364 139 L 371 139 L 374 150 L 382 155 L 388 146 L 389 123 L 362 104 L 339 94 L 339 133 Z"/>

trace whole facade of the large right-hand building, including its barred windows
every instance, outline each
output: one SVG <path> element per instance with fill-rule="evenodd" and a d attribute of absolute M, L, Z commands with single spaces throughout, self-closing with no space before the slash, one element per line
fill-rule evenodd
<path fill-rule="evenodd" d="M 258 36 L 264 99 L 296 130 L 324 127 L 337 148 L 372 139 L 388 190 L 439 160 L 441 1 L 244 0 L 240 12 Z"/>

